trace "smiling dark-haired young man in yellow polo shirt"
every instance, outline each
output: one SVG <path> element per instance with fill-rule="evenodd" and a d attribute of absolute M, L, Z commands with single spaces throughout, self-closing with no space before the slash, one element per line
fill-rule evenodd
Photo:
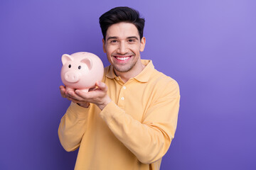
<path fill-rule="evenodd" d="M 60 93 L 71 102 L 58 135 L 65 150 L 78 149 L 75 169 L 160 169 L 176 131 L 179 89 L 171 77 L 141 60 L 144 18 L 132 8 L 100 17 L 110 66 L 87 94 Z"/>

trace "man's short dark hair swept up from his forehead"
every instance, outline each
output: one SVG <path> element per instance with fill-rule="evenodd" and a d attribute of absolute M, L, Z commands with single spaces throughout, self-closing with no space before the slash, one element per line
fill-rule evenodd
<path fill-rule="evenodd" d="M 145 19 L 140 18 L 139 12 L 133 8 L 129 8 L 127 6 L 112 8 L 110 11 L 103 13 L 99 20 L 104 40 L 106 40 L 107 28 L 112 26 L 114 23 L 121 22 L 133 23 L 139 31 L 139 38 L 143 38 Z"/>

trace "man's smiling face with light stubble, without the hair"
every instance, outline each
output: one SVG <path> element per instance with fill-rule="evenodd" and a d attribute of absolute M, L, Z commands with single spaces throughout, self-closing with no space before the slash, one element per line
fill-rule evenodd
<path fill-rule="evenodd" d="M 139 32 L 132 23 L 115 23 L 107 29 L 103 50 L 115 72 L 136 72 L 146 39 L 139 40 Z"/>

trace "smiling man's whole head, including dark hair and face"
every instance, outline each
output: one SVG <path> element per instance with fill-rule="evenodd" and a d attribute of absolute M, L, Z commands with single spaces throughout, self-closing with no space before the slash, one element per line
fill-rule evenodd
<path fill-rule="evenodd" d="M 144 19 L 132 8 L 117 7 L 100 16 L 103 51 L 118 76 L 130 78 L 143 69 L 140 52 L 144 50 Z"/>

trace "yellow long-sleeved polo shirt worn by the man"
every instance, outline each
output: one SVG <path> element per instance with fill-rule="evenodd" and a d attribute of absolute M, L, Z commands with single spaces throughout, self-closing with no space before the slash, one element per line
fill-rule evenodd
<path fill-rule="evenodd" d="M 58 135 L 68 152 L 78 149 L 78 170 L 160 169 L 176 131 L 180 94 L 171 77 L 154 69 L 151 60 L 126 83 L 105 68 L 102 79 L 112 99 L 102 111 L 94 104 L 71 103 Z"/>

